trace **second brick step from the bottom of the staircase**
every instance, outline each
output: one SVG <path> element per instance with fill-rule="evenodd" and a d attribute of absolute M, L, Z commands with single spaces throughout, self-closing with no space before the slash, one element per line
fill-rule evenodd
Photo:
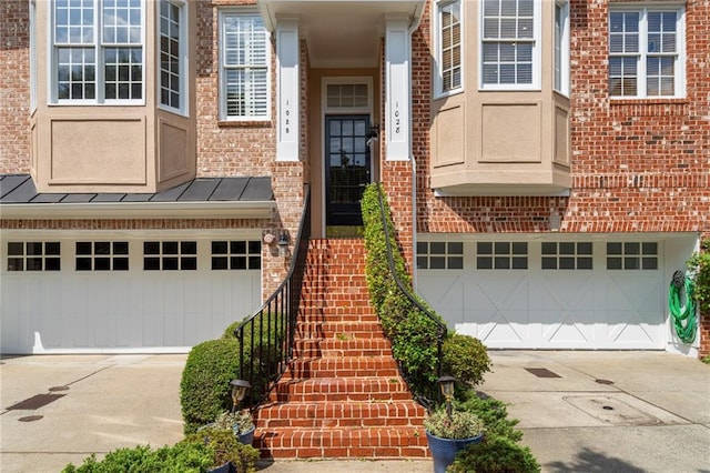
<path fill-rule="evenodd" d="M 414 401 L 267 404 L 254 414 L 257 429 L 420 427 L 426 411 Z"/>

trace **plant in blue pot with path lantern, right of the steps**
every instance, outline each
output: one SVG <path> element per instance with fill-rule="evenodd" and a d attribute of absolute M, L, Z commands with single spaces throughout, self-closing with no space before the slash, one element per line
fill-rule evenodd
<path fill-rule="evenodd" d="M 435 473 L 445 473 L 460 450 L 484 437 L 484 422 L 478 415 L 453 405 L 454 381 L 452 376 L 439 378 L 446 404 L 438 406 L 424 420 Z"/>

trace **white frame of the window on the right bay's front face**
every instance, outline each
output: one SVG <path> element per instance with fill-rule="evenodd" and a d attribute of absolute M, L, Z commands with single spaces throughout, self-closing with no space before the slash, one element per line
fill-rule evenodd
<path fill-rule="evenodd" d="M 485 11 L 485 0 L 480 1 L 479 9 L 479 24 L 478 24 L 478 82 L 480 90 L 540 90 L 540 77 L 541 77 L 541 67 L 542 63 L 542 52 L 540 46 L 542 44 L 542 6 L 541 2 L 545 0 L 534 0 L 532 4 L 532 28 L 535 31 L 532 32 L 532 38 L 529 42 L 532 44 L 532 80 L 531 83 L 484 83 L 484 43 L 486 42 L 505 42 L 501 40 L 495 41 L 486 40 L 484 36 L 484 11 Z"/>

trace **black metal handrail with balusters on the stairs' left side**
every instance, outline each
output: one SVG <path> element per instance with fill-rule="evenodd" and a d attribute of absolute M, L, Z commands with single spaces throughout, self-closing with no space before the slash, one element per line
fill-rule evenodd
<path fill-rule="evenodd" d="M 252 385 L 243 401 L 244 406 L 255 407 L 264 402 L 293 359 L 310 240 L 311 187 L 306 184 L 288 273 L 262 306 L 234 329 L 234 336 L 240 342 L 240 378 Z"/>

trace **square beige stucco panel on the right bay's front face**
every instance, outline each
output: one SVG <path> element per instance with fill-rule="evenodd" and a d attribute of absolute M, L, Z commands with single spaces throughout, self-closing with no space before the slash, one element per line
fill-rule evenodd
<path fill-rule="evenodd" d="M 539 103 L 484 104 L 480 162 L 540 162 Z"/>

